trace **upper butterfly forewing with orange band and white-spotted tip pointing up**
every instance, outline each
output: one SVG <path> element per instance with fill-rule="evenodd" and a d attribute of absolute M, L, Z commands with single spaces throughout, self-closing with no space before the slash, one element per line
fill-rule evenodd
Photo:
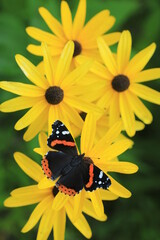
<path fill-rule="evenodd" d="M 47 145 L 52 149 L 72 156 L 78 154 L 72 135 L 66 126 L 59 120 L 55 121 L 52 125 L 52 134 L 48 138 Z"/>

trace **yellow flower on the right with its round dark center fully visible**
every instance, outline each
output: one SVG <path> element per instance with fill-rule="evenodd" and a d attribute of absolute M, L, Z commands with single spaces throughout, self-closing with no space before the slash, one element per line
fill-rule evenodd
<path fill-rule="evenodd" d="M 143 70 L 156 45 L 152 43 L 130 60 L 131 45 L 130 32 L 123 31 L 115 57 L 104 40 L 99 38 L 98 47 L 105 66 L 96 62 L 91 68 L 98 79 L 106 82 L 105 94 L 97 105 L 108 110 L 110 125 L 121 116 L 129 136 L 135 134 L 135 115 L 145 124 L 152 122 L 152 114 L 138 97 L 160 104 L 160 93 L 141 84 L 160 78 L 160 68 Z"/>

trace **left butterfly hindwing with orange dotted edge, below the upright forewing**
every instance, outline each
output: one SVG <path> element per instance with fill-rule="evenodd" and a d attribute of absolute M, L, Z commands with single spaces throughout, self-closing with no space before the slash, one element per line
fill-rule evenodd
<path fill-rule="evenodd" d="M 72 156 L 63 152 L 49 151 L 42 159 L 42 169 L 44 174 L 52 180 L 64 173 L 66 174 L 72 169 L 70 164 L 72 158 Z"/>

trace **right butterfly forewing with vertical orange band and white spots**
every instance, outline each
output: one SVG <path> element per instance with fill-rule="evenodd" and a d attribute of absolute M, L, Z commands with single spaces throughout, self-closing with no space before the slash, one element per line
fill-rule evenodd
<path fill-rule="evenodd" d="M 97 188 L 108 189 L 111 185 L 109 177 L 93 163 L 85 163 L 83 166 L 84 188 L 86 191 L 94 191 Z"/>

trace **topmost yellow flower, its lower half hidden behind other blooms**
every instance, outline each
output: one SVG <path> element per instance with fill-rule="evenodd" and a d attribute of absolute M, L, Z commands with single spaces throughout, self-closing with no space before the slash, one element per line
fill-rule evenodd
<path fill-rule="evenodd" d="M 85 26 L 86 18 L 86 0 L 80 0 L 79 6 L 72 22 L 72 14 L 66 1 L 61 1 L 61 21 L 58 22 L 50 12 L 41 7 L 39 8 L 40 15 L 50 28 L 52 33 L 42 31 L 35 27 L 28 27 L 27 33 L 39 42 L 46 42 L 52 56 L 61 54 L 66 42 L 74 41 L 74 54 L 79 54 L 97 57 L 96 39 L 98 36 L 103 36 L 108 45 L 112 45 L 119 40 L 120 33 L 105 34 L 114 25 L 115 18 L 110 16 L 108 10 L 103 10 L 94 16 Z M 28 51 L 35 55 L 42 55 L 41 46 L 29 45 Z"/>

